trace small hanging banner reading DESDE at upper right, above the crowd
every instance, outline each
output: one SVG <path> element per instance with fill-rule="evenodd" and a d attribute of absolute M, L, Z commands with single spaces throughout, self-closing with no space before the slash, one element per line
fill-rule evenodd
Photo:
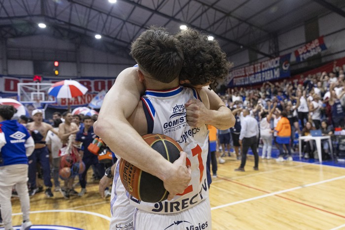
<path fill-rule="evenodd" d="M 327 47 L 323 40 L 323 36 L 320 36 L 294 51 L 296 62 L 303 62 L 326 49 Z"/>

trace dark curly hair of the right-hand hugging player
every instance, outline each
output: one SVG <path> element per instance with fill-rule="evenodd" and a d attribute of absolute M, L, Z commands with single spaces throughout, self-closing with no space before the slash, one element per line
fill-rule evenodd
<path fill-rule="evenodd" d="M 175 37 L 181 42 L 184 55 L 180 80 L 189 80 L 191 85 L 211 83 L 214 89 L 229 74 L 232 63 L 216 40 L 208 40 L 207 34 L 191 28 L 176 33 Z"/>

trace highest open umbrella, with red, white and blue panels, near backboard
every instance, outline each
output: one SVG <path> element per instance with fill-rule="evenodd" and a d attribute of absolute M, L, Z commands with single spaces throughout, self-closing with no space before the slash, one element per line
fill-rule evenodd
<path fill-rule="evenodd" d="M 75 98 L 86 94 L 87 88 L 74 80 L 63 80 L 54 83 L 48 94 L 55 98 Z"/>

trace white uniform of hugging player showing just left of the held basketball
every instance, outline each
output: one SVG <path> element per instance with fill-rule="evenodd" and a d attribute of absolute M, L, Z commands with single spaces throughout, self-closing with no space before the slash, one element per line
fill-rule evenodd
<path fill-rule="evenodd" d="M 133 214 L 136 207 L 130 204 L 126 189 L 119 176 L 119 164 L 115 168 L 114 181 L 111 189 L 111 220 L 110 230 L 133 230 Z"/>

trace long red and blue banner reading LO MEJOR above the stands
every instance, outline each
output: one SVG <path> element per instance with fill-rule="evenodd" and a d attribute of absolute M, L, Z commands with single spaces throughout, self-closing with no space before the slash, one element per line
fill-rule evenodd
<path fill-rule="evenodd" d="M 291 53 L 230 72 L 228 87 L 248 86 L 290 76 Z"/>

